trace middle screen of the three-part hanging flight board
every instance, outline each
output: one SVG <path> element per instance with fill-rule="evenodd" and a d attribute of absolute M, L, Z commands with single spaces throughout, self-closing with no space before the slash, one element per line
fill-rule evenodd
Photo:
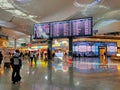
<path fill-rule="evenodd" d="M 50 24 L 50 37 L 63 38 L 71 34 L 69 21 L 52 22 Z"/>

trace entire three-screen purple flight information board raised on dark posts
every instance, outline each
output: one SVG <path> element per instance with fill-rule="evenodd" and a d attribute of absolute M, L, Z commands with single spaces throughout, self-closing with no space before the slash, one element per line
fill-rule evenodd
<path fill-rule="evenodd" d="M 35 39 L 92 36 L 92 18 L 39 23 L 33 29 Z"/>

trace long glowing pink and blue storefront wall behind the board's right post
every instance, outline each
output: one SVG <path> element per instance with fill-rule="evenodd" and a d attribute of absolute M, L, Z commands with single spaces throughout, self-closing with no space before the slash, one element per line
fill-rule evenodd
<path fill-rule="evenodd" d="M 107 48 L 107 56 L 117 53 L 117 44 L 115 42 L 74 42 L 73 52 L 76 56 L 99 56 L 99 47 Z"/>

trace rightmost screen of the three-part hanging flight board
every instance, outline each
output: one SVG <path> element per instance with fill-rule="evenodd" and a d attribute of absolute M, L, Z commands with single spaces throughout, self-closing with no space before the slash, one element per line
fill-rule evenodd
<path fill-rule="evenodd" d="M 91 36 L 92 18 L 70 20 L 72 36 Z"/>

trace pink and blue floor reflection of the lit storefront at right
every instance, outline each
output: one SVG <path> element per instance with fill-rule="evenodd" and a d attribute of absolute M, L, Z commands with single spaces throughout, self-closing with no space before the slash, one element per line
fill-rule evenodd
<path fill-rule="evenodd" d="M 115 72 L 118 70 L 117 64 L 99 58 L 81 58 L 73 61 L 73 69 L 79 73 L 92 72 Z"/>

